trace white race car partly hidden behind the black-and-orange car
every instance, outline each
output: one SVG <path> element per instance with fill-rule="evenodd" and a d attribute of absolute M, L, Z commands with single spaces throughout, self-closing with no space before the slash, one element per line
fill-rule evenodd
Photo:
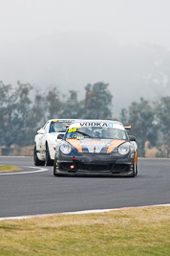
<path fill-rule="evenodd" d="M 34 165 L 53 165 L 56 144 L 61 140 L 58 135 L 64 134 L 67 124 L 70 125 L 74 121 L 74 119 L 51 119 L 43 128 L 37 130 L 34 137 Z"/>

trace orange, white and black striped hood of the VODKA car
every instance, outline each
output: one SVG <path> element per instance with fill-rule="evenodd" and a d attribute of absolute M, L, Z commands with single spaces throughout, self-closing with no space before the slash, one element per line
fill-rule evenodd
<path fill-rule="evenodd" d="M 66 139 L 79 152 L 110 153 L 126 140 L 117 139 Z"/>

